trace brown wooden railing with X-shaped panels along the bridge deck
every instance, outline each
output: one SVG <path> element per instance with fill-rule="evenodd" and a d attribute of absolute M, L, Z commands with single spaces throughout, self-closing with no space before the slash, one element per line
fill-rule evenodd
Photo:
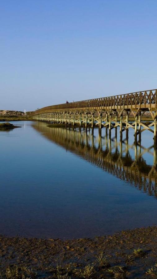
<path fill-rule="evenodd" d="M 40 108 L 34 111 L 31 115 L 36 115 L 43 113 L 44 111 L 50 110 L 70 110 L 70 109 L 105 109 L 105 108 L 136 108 L 136 107 L 144 107 L 147 108 L 148 106 L 151 108 L 151 105 L 157 105 L 157 89 L 146 90 L 146 91 L 139 91 L 133 92 L 123 95 L 116 95 L 111 97 L 104 97 L 104 98 L 97 98 L 97 99 L 90 99 L 90 100 L 83 100 L 72 102 L 68 104 L 58 104 L 47 106 L 44 108 Z"/>

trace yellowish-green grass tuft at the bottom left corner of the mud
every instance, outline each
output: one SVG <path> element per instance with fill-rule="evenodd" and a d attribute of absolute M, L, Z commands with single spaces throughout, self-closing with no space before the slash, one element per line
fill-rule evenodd
<path fill-rule="evenodd" d="M 14 265 L 12 267 L 8 267 L 5 273 L 6 279 L 35 279 L 37 278 L 37 273 L 32 270 L 32 268 L 27 267 L 18 267 Z"/>

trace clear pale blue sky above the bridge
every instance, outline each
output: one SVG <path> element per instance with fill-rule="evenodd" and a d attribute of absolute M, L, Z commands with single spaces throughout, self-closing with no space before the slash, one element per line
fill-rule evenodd
<path fill-rule="evenodd" d="M 0 109 L 157 88 L 156 0 L 1 0 Z"/>

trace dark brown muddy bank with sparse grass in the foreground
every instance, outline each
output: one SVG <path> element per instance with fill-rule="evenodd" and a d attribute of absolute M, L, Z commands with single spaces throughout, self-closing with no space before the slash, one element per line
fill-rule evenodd
<path fill-rule="evenodd" d="M 157 227 L 65 241 L 1 236 L 0 255 L 2 278 L 157 278 Z"/>

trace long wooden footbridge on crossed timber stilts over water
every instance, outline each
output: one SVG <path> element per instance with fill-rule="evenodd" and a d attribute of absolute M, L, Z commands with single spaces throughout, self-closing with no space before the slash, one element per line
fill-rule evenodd
<path fill-rule="evenodd" d="M 148 125 L 141 121 L 146 112 L 150 114 Z M 133 121 L 129 121 L 132 114 Z M 34 111 L 31 116 L 35 120 L 48 123 L 62 123 L 66 126 L 98 126 L 99 132 L 103 127 L 109 129 L 109 135 L 113 128 L 120 126 L 120 136 L 129 128 L 135 130 L 135 142 L 137 135 L 148 130 L 154 134 L 156 143 L 157 133 L 157 89 L 133 92 L 123 95 L 104 97 L 98 99 L 58 104 L 44 107 Z M 142 128 L 141 128 L 142 127 Z M 153 129 L 154 127 L 154 129 Z"/>

